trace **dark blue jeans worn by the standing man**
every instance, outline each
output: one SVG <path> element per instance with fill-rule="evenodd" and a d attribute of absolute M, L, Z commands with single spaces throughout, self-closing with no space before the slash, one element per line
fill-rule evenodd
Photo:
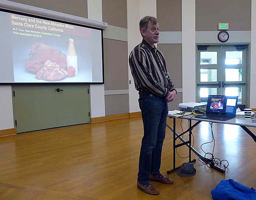
<path fill-rule="evenodd" d="M 148 92 L 140 92 L 138 101 L 144 126 L 144 136 L 140 148 L 138 182 L 148 185 L 150 184 L 150 173 L 160 175 L 168 104 L 164 97 Z"/>

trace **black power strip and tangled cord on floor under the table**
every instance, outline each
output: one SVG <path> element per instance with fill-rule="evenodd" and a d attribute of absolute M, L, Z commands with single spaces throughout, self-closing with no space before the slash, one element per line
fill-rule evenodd
<path fill-rule="evenodd" d="M 220 160 L 219 158 L 214 158 L 214 148 L 215 148 L 215 138 L 214 138 L 214 134 L 213 134 L 213 130 L 212 130 L 212 124 L 213 122 L 209 122 L 210 126 L 211 126 L 211 131 L 212 131 L 212 141 L 210 142 L 205 142 L 203 144 L 201 144 L 200 148 L 201 150 L 205 153 L 204 157 L 200 157 L 198 160 L 204 164 L 206 164 L 206 166 L 208 167 L 212 167 L 215 168 L 216 170 L 224 173 L 226 172 L 226 168 L 228 167 L 229 163 L 228 160 Z M 212 153 L 210 152 L 205 152 L 202 148 L 203 145 L 205 144 L 210 144 L 213 142 L 213 149 L 212 149 Z M 207 155 L 210 155 L 211 158 L 206 158 Z M 217 166 L 220 163 L 220 166 L 222 165 L 222 162 L 227 162 L 227 165 L 223 164 L 224 169 L 220 168 L 219 166 Z"/>

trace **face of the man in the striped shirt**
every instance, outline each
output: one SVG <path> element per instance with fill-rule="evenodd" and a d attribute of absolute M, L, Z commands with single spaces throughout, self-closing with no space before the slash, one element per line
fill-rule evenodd
<path fill-rule="evenodd" d="M 148 28 L 141 29 L 142 36 L 153 46 L 159 40 L 159 24 L 153 25 L 151 22 L 148 22 Z"/>

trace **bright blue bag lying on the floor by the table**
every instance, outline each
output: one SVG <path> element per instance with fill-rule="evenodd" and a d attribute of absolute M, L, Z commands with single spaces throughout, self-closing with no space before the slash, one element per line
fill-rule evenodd
<path fill-rule="evenodd" d="M 233 179 L 220 181 L 211 194 L 214 200 L 256 200 L 254 188 L 248 188 Z"/>

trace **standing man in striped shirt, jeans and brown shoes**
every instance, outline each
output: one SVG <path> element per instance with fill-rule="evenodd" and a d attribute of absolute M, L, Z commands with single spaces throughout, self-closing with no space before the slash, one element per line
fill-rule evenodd
<path fill-rule="evenodd" d="M 130 53 L 129 64 L 135 88 L 139 91 L 139 106 L 142 112 L 144 136 L 140 148 L 137 187 L 158 195 L 151 181 L 173 184 L 160 173 L 162 146 L 165 138 L 168 102 L 177 94 L 166 69 L 163 54 L 154 46 L 159 40 L 159 25 L 155 17 L 145 16 L 140 20 L 142 42 Z"/>

